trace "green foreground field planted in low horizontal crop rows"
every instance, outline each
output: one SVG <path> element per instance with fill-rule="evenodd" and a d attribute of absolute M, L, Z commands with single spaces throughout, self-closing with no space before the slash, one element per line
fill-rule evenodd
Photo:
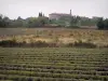
<path fill-rule="evenodd" d="M 0 81 L 108 81 L 108 50 L 0 48 Z"/>

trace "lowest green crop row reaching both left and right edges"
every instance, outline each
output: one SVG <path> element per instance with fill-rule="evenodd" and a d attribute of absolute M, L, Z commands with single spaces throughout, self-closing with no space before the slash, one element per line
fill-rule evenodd
<path fill-rule="evenodd" d="M 65 79 L 93 79 L 93 80 L 108 80 L 108 76 L 94 76 L 94 75 L 71 75 L 71 73 L 51 73 L 51 72 L 36 72 L 36 71 L 15 71 L 15 70 L 0 70 L 2 75 L 17 75 L 26 77 L 41 77 L 41 78 L 65 78 Z"/>

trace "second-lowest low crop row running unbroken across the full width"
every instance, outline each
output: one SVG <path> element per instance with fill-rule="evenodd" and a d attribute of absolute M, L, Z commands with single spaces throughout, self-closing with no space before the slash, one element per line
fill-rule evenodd
<path fill-rule="evenodd" d="M 44 68 L 17 68 L 17 67 L 0 67 L 0 70 L 15 70 L 15 71 L 35 71 L 35 72 L 51 72 L 51 73 L 80 73 L 80 75 L 99 75 L 99 76 L 108 76 L 108 71 L 105 70 L 79 70 L 79 69 L 70 69 L 70 70 L 62 70 L 62 69 L 44 69 Z"/>

